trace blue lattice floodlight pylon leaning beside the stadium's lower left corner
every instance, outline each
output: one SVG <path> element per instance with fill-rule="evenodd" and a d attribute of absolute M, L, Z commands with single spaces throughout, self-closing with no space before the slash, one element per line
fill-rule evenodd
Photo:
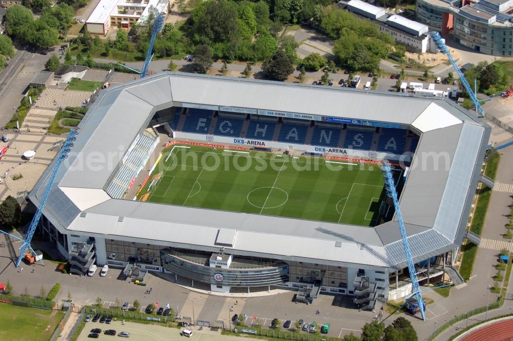
<path fill-rule="evenodd" d="M 37 227 L 37 223 L 39 222 L 39 219 L 41 218 L 41 214 L 43 213 L 43 209 L 45 207 L 46 200 L 48 199 L 48 196 L 50 195 L 50 191 L 52 190 L 53 182 L 55 181 L 57 172 L 59 171 L 59 168 L 61 167 L 62 162 L 68 157 L 68 154 L 69 154 L 71 148 L 73 147 L 73 142 L 76 140 L 77 135 L 78 135 L 78 130 L 72 128 L 69 131 L 66 141 L 64 141 L 63 147 L 58 155 L 57 163 L 53 167 L 53 171 L 50 176 L 50 181 L 48 181 L 48 185 L 46 186 L 45 193 L 43 194 L 43 199 L 41 199 L 40 205 L 39 205 L 39 207 L 37 207 L 37 211 L 34 214 L 32 221 L 30 222 L 29 231 L 27 232 L 27 235 L 25 236 L 23 244 L 21 247 L 19 247 L 19 256 L 18 256 L 18 260 L 16 261 L 16 268 L 19 267 L 19 263 L 21 263 L 23 257 L 25 257 L 25 252 L 27 252 L 27 249 L 30 248 L 30 242 L 32 241 L 32 237 L 34 236 L 34 232 Z"/>

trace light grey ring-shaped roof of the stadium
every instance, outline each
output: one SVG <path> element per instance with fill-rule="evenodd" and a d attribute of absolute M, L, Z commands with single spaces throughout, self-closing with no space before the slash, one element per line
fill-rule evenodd
<path fill-rule="evenodd" d="M 227 252 L 233 249 L 241 255 L 281 259 L 377 267 L 404 264 L 396 221 L 364 228 L 110 198 L 104 188 L 135 136 L 147 127 L 155 111 L 182 103 L 416 127 L 422 134 L 400 198 L 412 254 L 421 260 L 461 243 L 489 136 L 489 127 L 465 109 L 445 99 L 408 94 L 173 72 L 102 91 L 79 126 L 80 134 L 57 175 L 45 216 L 63 233 L 183 248 L 194 245 L 206 251 L 222 245 Z M 108 162 L 93 169 L 84 166 L 88 158 Z M 29 195 L 36 205 L 51 168 Z"/>

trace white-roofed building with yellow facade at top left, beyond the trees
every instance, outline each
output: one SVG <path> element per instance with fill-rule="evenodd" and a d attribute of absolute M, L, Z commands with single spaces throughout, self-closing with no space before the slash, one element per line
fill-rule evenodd
<path fill-rule="evenodd" d="M 86 21 L 93 34 L 107 34 L 111 26 L 130 28 L 148 15 L 150 7 L 168 13 L 170 0 L 100 0 Z"/>

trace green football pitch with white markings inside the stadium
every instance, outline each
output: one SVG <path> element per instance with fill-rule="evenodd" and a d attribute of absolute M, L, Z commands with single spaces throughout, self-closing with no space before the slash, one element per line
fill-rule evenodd
<path fill-rule="evenodd" d="M 137 200 L 374 226 L 384 196 L 376 164 L 174 145 Z"/>

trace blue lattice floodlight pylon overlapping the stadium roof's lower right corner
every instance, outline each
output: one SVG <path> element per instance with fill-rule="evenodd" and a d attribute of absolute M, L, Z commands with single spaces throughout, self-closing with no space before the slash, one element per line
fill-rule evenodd
<path fill-rule="evenodd" d="M 397 199 L 396 185 L 393 183 L 392 169 L 390 167 L 390 163 L 385 160 L 381 165 L 381 169 L 383 172 L 383 178 L 385 180 L 386 194 L 392 199 L 393 206 L 396 209 L 396 216 L 399 222 L 399 231 L 401 231 L 404 253 L 406 254 L 406 261 L 408 263 L 408 272 L 410 273 L 412 295 L 415 295 L 415 297 L 417 298 L 417 304 L 419 305 L 420 312 L 422 314 L 422 319 L 425 321 L 426 316 L 424 315 L 424 300 L 422 299 L 422 295 L 420 293 L 419 279 L 417 278 L 415 266 L 413 265 L 413 257 L 411 256 L 408 238 L 406 236 L 406 229 L 404 228 L 403 216 L 401 215 L 401 207 L 399 206 L 399 200 Z"/>

